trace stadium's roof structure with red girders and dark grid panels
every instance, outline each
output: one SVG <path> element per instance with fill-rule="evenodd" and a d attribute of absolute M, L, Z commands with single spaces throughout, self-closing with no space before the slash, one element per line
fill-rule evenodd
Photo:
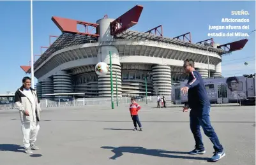
<path fill-rule="evenodd" d="M 163 43 L 172 43 L 174 45 L 182 45 L 186 47 L 198 48 L 201 50 L 207 50 L 207 47 L 203 45 L 203 42 L 210 41 L 212 47 L 209 47 L 209 50 L 211 50 L 211 52 L 216 52 L 219 55 L 224 55 L 236 50 L 241 50 L 243 47 L 245 47 L 248 41 L 248 39 L 241 39 L 239 41 L 226 43 L 218 46 L 217 48 L 213 48 L 213 38 L 206 39 L 197 43 L 192 43 L 192 37 L 190 32 L 187 32 L 186 34 L 182 34 L 175 38 L 163 37 L 162 25 L 154 27 L 147 32 L 128 30 L 130 27 L 137 24 L 140 14 L 142 13 L 142 9 L 142 6 L 137 5 L 110 23 L 110 31 L 114 38 L 138 41 L 161 41 Z M 100 36 L 98 31 L 99 24 L 96 23 L 83 22 L 79 20 L 72 20 L 69 18 L 61 17 L 52 17 L 52 21 L 57 25 L 57 27 L 59 27 L 62 34 L 56 39 L 56 41 L 54 41 L 54 43 L 50 45 L 49 48 L 47 48 L 47 50 L 43 54 L 40 55 L 40 58 L 36 62 L 34 62 L 34 69 L 38 68 L 38 66 L 40 66 L 43 61 L 48 59 L 49 56 L 54 54 L 54 52 L 56 52 L 57 50 L 72 47 L 75 45 L 97 42 L 98 36 Z M 86 31 L 77 31 L 77 24 L 84 25 L 84 27 L 86 27 Z M 88 32 L 88 27 L 93 27 L 93 29 L 96 29 L 96 33 L 93 34 L 91 32 Z M 153 31 L 154 34 L 152 34 Z M 156 34 L 156 32 L 158 32 L 158 34 Z M 183 39 L 180 39 L 182 37 Z M 30 66 L 20 66 L 20 68 L 22 68 L 26 73 L 31 73 Z"/>

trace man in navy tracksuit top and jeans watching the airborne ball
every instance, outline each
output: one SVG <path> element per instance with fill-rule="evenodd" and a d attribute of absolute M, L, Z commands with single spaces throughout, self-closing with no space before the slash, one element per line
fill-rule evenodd
<path fill-rule="evenodd" d="M 195 138 L 195 149 L 189 152 L 189 154 L 204 154 L 206 150 L 204 149 L 204 144 L 202 143 L 202 135 L 200 133 L 200 126 L 204 130 L 204 134 L 213 143 L 213 148 L 215 152 L 213 157 L 209 161 L 218 161 L 225 156 L 218 136 L 215 130 L 211 126 L 209 111 L 210 111 L 210 101 L 207 96 L 206 88 L 204 87 L 204 82 L 202 76 L 195 71 L 195 62 L 192 59 L 186 59 L 184 61 L 184 71 L 189 74 L 188 83 L 185 87 L 181 88 L 183 93 L 188 92 L 188 104 L 183 108 L 184 111 L 190 111 L 190 129 Z"/>

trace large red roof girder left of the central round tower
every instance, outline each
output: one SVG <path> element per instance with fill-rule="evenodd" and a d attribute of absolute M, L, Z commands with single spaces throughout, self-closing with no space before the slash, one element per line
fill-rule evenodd
<path fill-rule="evenodd" d="M 68 18 L 61 18 L 61 17 L 52 17 L 52 21 L 54 22 L 54 24 L 57 25 L 57 27 L 59 27 L 61 32 L 79 34 L 79 35 L 84 35 L 84 36 L 92 36 L 92 37 L 100 36 L 98 34 L 99 24 L 89 23 L 89 22 L 84 22 L 84 21 L 79 21 L 79 20 L 72 20 L 72 19 L 68 19 Z M 77 31 L 78 24 L 84 25 L 84 27 L 86 27 L 86 31 L 85 32 Z M 93 31 L 93 29 L 91 29 L 91 31 L 88 32 L 88 26 L 93 27 L 93 29 L 96 28 L 96 34 L 91 34 L 91 31 Z"/>

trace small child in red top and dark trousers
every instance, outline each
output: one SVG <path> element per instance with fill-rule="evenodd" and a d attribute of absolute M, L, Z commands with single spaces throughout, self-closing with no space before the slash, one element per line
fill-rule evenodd
<path fill-rule="evenodd" d="M 140 119 L 138 116 L 138 111 L 140 110 L 140 105 L 135 102 L 135 97 L 132 97 L 131 102 L 132 102 L 132 104 L 130 104 L 130 113 L 131 113 L 131 117 L 132 117 L 133 125 L 134 125 L 133 131 L 138 130 L 137 124 L 140 127 L 139 131 L 142 131 L 142 125 L 140 123 Z"/>

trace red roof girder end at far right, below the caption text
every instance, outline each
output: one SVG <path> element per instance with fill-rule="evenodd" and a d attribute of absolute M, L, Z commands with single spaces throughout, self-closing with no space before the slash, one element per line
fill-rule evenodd
<path fill-rule="evenodd" d="M 234 52 L 236 50 L 243 49 L 247 42 L 248 42 L 248 39 L 241 39 L 239 41 L 234 41 L 232 43 L 226 43 L 226 44 L 220 45 L 217 48 L 222 48 L 223 50 Z"/>

